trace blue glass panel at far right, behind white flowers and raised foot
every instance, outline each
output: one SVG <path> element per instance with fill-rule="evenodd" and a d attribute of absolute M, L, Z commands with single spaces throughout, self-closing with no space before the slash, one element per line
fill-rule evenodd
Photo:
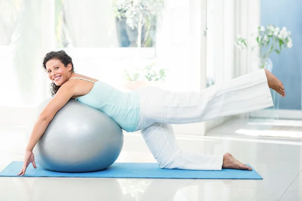
<path fill-rule="evenodd" d="M 286 7 L 286 10 L 284 8 Z M 273 52 L 271 71 L 284 84 L 286 96 L 281 97 L 274 91 L 274 107 L 251 113 L 251 118 L 268 118 L 274 120 L 302 120 L 302 3 L 300 1 L 286 2 L 267 0 L 261 1 L 261 25 L 263 29 L 274 29 L 278 38 L 284 38 L 290 31 L 292 43 L 281 50 L 280 54 Z M 274 27 L 270 27 L 273 25 Z M 284 33 L 284 34 L 282 34 Z"/>

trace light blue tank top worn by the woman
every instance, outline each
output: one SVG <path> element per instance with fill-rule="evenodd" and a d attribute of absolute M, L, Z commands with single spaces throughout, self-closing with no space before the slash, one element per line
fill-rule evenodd
<path fill-rule="evenodd" d="M 80 77 L 73 78 L 91 81 Z M 98 80 L 94 82 L 94 86 L 89 93 L 75 99 L 102 111 L 111 117 L 124 131 L 134 132 L 137 127 L 140 115 L 139 95 L 137 92 L 126 93 Z"/>

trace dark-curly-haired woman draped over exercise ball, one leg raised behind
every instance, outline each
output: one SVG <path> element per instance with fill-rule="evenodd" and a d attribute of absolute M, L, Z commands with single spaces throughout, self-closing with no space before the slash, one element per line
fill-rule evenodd
<path fill-rule="evenodd" d="M 128 132 L 140 130 L 146 145 L 161 168 L 252 170 L 230 153 L 203 155 L 182 151 L 175 140 L 171 124 L 207 121 L 273 106 L 269 87 L 282 97 L 283 84 L 270 72 L 253 73 L 210 86 L 200 92 L 172 92 L 156 87 L 143 87 L 124 93 L 100 80 L 74 72 L 72 59 L 64 52 L 46 54 L 43 67 L 52 80 L 52 100 L 40 114 L 26 147 L 24 175 L 30 163 L 36 168 L 34 146 L 54 115 L 70 98 L 94 107 Z"/>

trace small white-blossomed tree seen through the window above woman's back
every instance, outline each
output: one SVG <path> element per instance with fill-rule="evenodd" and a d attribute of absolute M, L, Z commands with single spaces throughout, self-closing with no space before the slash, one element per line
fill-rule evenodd
<path fill-rule="evenodd" d="M 152 47 L 163 0 L 115 0 L 113 3 L 121 47 Z"/>

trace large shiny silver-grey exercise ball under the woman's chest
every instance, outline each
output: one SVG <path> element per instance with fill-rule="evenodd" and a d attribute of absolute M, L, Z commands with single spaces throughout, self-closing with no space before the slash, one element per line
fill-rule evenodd
<path fill-rule="evenodd" d="M 51 98 L 37 110 L 40 114 Z M 70 99 L 35 146 L 35 161 L 59 172 L 103 170 L 118 158 L 124 142 L 120 126 L 101 111 Z"/>

